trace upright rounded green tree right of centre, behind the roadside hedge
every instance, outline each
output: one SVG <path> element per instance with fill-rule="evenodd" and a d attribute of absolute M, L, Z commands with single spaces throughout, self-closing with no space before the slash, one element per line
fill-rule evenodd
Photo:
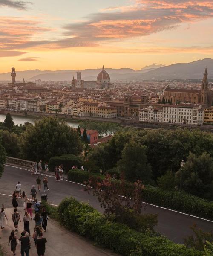
<path fill-rule="evenodd" d="M 147 163 L 146 149 L 146 146 L 141 146 L 136 142 L 124 145 L 121 160 L 118 161 L 118 169 L 126 180 L 150 182 L 152 172 Z"/>

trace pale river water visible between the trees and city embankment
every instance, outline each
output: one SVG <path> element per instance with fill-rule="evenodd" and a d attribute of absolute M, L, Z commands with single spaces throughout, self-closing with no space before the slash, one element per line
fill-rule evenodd
<path fill-rule="evenodd" d="M 4 122 L 5 117 L 6 117 L 5 114 L 0 114 L 0 122 Z M 34 124 L 35 121 L 41 119 L 41 117 L 36 117 L 36 116 L 14 116 L 14 115 L 12 115 L 12 118 L 15 125 L 24 124 L 25 122 L 31 122 L 32 124 Z M 65 121 L 68 123 L 70 127 L 74 127 L 74 128 L 78 127 L 78 121 L 73 122 L 73 121 L 69 121 L 69 119 Z"/>

